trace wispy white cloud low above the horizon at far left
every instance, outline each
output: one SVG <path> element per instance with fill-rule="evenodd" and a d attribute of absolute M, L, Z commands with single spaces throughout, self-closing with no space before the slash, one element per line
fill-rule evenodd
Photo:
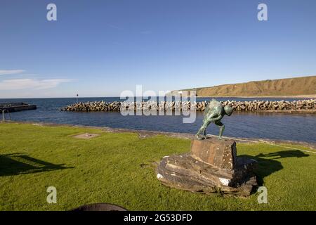
<path fill-rule="evenodd" d="M 74 79 L 6 79 L 0 82 L 0 90 L 52 89 Z"/>

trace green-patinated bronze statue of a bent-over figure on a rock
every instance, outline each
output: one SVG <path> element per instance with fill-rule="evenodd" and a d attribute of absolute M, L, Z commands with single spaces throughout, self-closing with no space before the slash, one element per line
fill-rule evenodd
<path fill-rule="evenodd" d="M 222 139 L 225 126 L 222 122 L 220 122 L 220 120 L 223 119 L 224 115 L 232 115 L 232 107 L 230 107 L 230 105 L 226 105 L 224 107 L 222 103 L 212 99 L 204 110 L 203 124 L 197 132 L 196 138 L 199 140 L 206 139 L 206 128 L 211 122 L 213 122 L 220 128 L 218 139 Z M 204 132 L 203 137 L 200 136 L 202 132 Z"/>

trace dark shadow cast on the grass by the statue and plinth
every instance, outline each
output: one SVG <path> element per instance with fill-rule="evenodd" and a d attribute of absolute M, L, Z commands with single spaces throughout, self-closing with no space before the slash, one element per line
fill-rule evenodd
<path fill-rule="evenodd" d="M 255 170 L 257 175 L 258 186 L 263 186 L 263 179 L 274 172 L 283 169 L 281 162 L 278 159 L 282 158 L 303 158 L 308 157 L 308 154 L 301 150 L 280 150 L 275 153 L 260 153 L 258 155 L 240 155 L 241 157 L 251 158 L 258 162 L 258 168 Z"/>

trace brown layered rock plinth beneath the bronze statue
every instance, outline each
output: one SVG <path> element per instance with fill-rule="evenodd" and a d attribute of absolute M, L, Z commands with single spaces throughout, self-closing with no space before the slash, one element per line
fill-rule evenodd
<path fill-rule="evenodd" d="M 162 159 L 157 179 L 192 192 L 248 196 L 257 185 L 256 160 L 239 158 L 236 153 L 235 141 L 193 139 L 190 153 Z"/>

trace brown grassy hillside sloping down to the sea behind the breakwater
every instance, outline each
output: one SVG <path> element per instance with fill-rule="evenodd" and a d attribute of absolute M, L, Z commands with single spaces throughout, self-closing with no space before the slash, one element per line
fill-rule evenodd
<path fill-rule="evenodd" d="M 190 91 L 193 89 L 187 89 Z M 195 89 L 197 96 L 316 96 L 316 76 L 273 79 L 241 84 L 223 84 L 219 86 Z M 172 91 L 171 94 L 177 94 Z"/>

